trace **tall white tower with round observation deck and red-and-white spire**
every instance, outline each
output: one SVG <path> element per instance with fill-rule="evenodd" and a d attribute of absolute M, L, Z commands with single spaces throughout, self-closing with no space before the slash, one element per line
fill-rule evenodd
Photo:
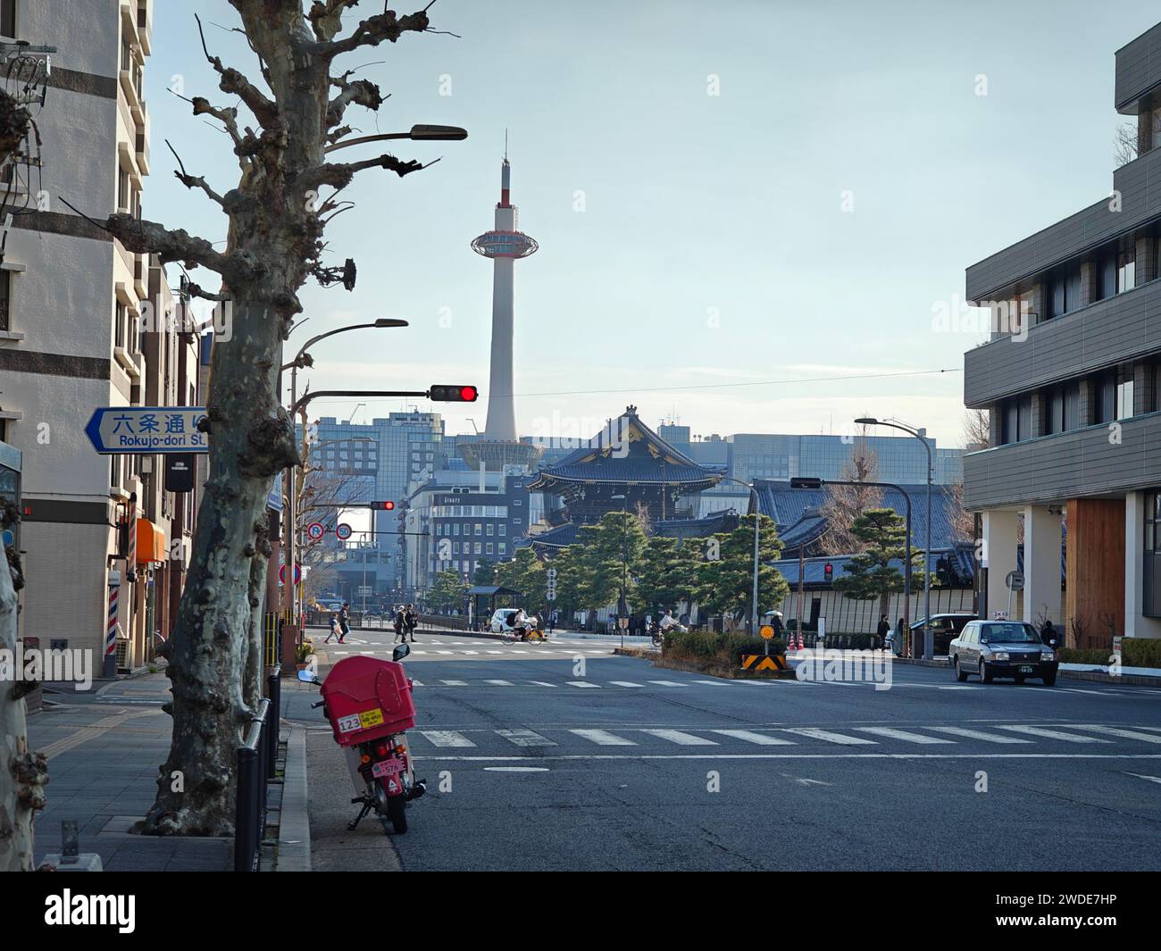
<path fill-rule="evenodd" d="M 512 367 L 515 289 L 513 265 L 517 258 L 534 254 L 540 245 L 517 230 L 517 209 L 511 201 L 511 175 L 505 143 L 496 226 L 471 243 L 473 251 L 492 259 L 492 356 L 488 384 L 488 420 L 484 423 L 483 440 L 463 445 L 461 451 L 461 456 L 473 468 L 481 463 L 490 469 L 505 464 L 527 467 L 540 455 L 536 447 L 518 441 Z"/>

